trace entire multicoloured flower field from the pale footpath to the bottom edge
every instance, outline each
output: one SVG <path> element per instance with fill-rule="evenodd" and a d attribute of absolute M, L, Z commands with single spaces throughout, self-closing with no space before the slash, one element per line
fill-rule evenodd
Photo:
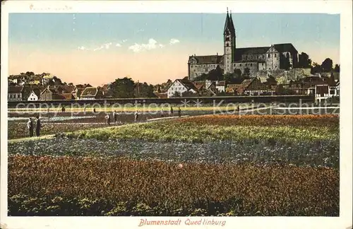
<path fill-rule="evenodd" d="M 205 115 L 8 142 L 10 216 L 338 216 L 337 115 Z"/>

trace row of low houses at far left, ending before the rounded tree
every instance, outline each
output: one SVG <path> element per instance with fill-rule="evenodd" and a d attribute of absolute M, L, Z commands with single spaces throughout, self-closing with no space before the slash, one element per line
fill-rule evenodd
<path fill-rule="evenodd" d="M 78 86 L 8 86 L 8 100 L 95 100 L 112 98 L 108 85 L 92 87 L 88 85 Z"/>

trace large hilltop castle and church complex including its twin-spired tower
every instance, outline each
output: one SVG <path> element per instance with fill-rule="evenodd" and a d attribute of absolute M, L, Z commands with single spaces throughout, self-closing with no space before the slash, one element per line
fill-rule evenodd
<path fill-rule="evenodd" d="M 291 69 L 297 66 L 298 51 L 291 43 L 271 45 L 268 47 L 245 47 L 237 48 L 236 33 L 232 19 L 232 12 L 228 13 L 225 19 L 224 54 L 193 56 L 189 57 L 188 72 L 192 81 L 202 74 L 220 66 L 224 74 L 233 73 L 240 69 L 244 73 L 246 68 L 250 74 L 258 71 L 275 71 L 278 69 Z"/>

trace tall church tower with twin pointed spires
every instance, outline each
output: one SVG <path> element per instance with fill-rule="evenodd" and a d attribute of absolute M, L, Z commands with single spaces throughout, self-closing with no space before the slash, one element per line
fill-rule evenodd
<path fill-rule="evenodd" d="M 223 64 L 225 69 L 225 74 L 233 73 L 233 61 L 235 53 L 235 29 L 232 19 L 232 11 L 230 16 L 227 8 L 227 17 L 225 18 L 225 30 L 223 32 L 224 36 L 224 45 L 225 45 L 225 55 L 223 57 Z"/>

